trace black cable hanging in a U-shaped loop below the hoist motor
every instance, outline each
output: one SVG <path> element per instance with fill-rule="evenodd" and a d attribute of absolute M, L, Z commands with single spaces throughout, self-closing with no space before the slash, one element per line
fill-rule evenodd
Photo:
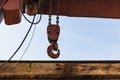
<path fill-rule="evenodd" d="M 40 18 L 39 18 L 39 20 L 36 22 L 36 23 L 34 23 L 34 22 L 31 22 L 26 16 L 25 16 L 25 14 L 23 13 L 23 10 L 22 10 L 22 6 L 21 6 L 21 3 L 20 3 L 20 0 L 19 0 L 19 5 L 20 5 L 20 10 L 21 10 L 21 13 L 22 13 L 22 15 L 23 15 L 23 17 L 26 19 L 26 21 L 28 21 L 29 23 L 32 23 L 32 24 L 38 24 L 39 22 L 40 22 L 40 18 L 41 18 L 41 15 L 40 15 Z M 40 14 L 42 14 L 42 9 L 43 9 L 43 0 L 41 0 L 41 2 L 39 1 L 39 9 L 40 9 Z M 24 6 L 26 6 L 26 4 L 24 5 Z M 36 12 L 36 14 L 37 14 L 37 12 Z"/>

